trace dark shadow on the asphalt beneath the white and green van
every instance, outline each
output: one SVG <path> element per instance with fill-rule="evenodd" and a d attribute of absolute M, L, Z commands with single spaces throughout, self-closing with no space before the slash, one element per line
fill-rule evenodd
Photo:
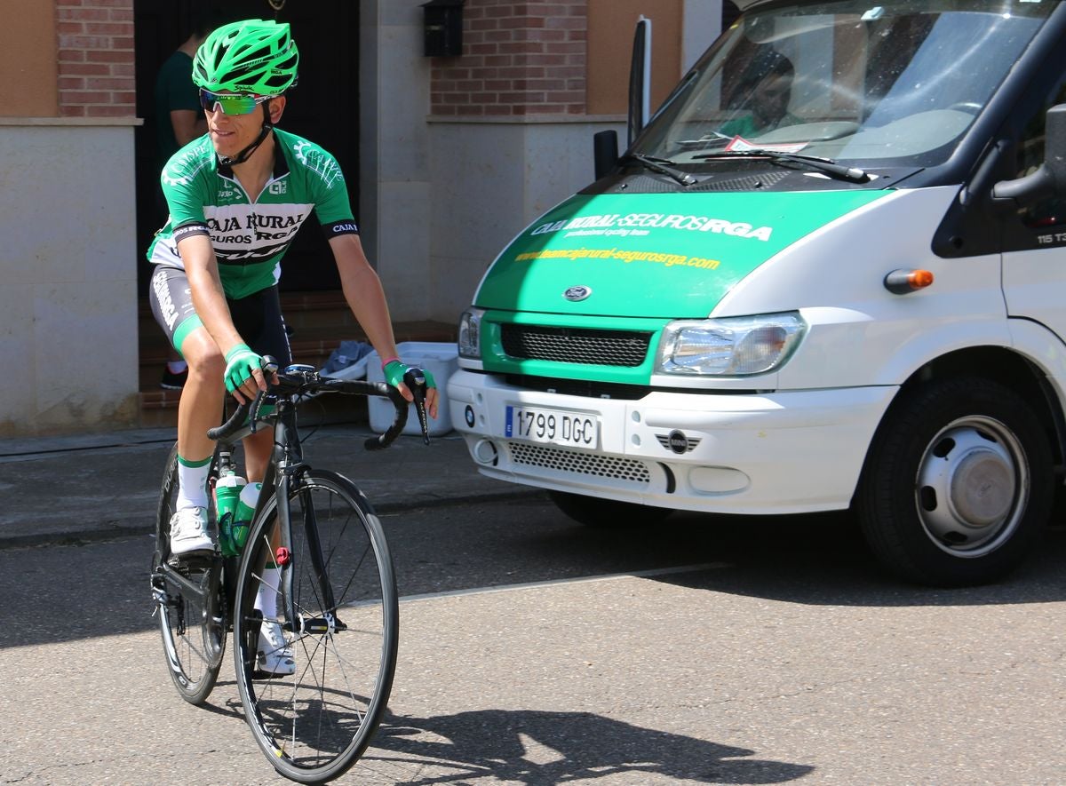
<path fill-rule="evenodd" d="M 846 512 L 729 517 L 676 512 L 653 529 L 578 524 L 529 529 L 530 563 L 565 554 L 587 574 L 692 567 L 647 576 L 692 589 L 808 605 L 1015 605 L 1066 600 L 1066 528 L 1049 527 L 1014 572 L 983 586 L 946 589 L 903 582 L 878 564 Z M 558 560 L 558 557 L 556 557 Z M 699 567 L 699 566 L 706 567 Z"/>

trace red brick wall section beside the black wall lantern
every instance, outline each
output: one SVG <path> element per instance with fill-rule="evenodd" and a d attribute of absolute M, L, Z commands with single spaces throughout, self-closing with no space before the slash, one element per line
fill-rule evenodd
<path fill-rule="evenodd" d="M 431 112 L 585 113 L 586 0 L 467 0 L 463 54 L 434 58 Z"/>

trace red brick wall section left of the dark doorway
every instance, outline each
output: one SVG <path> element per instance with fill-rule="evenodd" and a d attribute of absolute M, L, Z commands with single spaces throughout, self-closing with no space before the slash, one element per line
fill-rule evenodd
<path fill-rule="evenodd" d="M 133 0 L 54 0 L 63 117 L 132 117 Z"/>

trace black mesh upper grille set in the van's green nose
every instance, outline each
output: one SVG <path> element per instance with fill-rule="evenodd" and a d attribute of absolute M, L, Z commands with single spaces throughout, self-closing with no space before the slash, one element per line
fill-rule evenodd
<path fill-rule="evenodd" d="M 648 355 L 651 333 L 503 324 L 500 339 L 512 358 L 635 367 Z"/>

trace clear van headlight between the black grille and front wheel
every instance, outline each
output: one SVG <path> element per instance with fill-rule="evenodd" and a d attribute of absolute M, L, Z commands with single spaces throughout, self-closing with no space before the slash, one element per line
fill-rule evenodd
<path fill-rule="evenodd" d="M 659 344 L 659 374 L 740 377 L 765 374 L 789 359 L 807 323 L 798 312 L 679 320 L 666 325 Z"/>

